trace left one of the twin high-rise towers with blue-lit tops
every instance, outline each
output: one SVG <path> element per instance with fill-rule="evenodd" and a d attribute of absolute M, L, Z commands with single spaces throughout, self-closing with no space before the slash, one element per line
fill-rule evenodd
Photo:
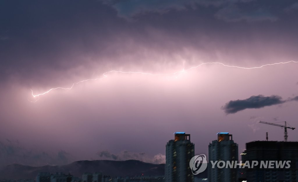
<path fill-rule="evenodd" d="M 195 145 L 190 142 L 190 134 L 176 132 L 175 139 L 166 145 L 166 182 L 193 182 L 190 159 L 195 155 Z"/>

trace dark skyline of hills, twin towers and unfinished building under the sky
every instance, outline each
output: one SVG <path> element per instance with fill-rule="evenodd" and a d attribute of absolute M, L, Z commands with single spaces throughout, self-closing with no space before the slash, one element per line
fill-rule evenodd
<path fill-rule="evenodd" d="M 43 167 L 15 164 L 0 169 L 1 180 L 34 182 L 36 176 L 37 182 L 297 181 L 297 141 L 247 142 L 239 161 L 238 144 L 231 133 L 219 132 L 217 139 L 210 141 L 209 159 L 204 154 L 195 155 L 195 144 L 190 141 L 190 134 L 175 132 L 173 138 L 165 146 L 166 164 L 137 160 L 76 161 L 69 165 Z"/>

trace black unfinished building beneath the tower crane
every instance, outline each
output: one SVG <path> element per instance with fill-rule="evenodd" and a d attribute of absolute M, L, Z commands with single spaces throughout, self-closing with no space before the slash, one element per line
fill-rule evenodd
<path fill-rule="evenodd" d="M 298 182 L 298 142 L 295 141 L 252 141 L 246 143 L 246 150 L 242 153 L 242 162 L 258 161 L 254 168 L 243 168 L 243 177 L 249 181 L 296 181 Z M 261 161 L 277 161 L 285 163 L 291 161 L 290 167 L 260 168 Z M 266 162 L 265 162 L 266 164 Z"/>

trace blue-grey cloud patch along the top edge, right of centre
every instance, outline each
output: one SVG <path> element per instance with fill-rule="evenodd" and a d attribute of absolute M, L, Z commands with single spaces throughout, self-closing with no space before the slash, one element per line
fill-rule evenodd
<path fill-rule="evenodd" d="M 170 10 L 182 11 L 191 9 L 197 9 L 198 7 L 215 9 L 214 16 L 220 20 L 227 22 L 236 21 L 276 21 L 277 15 L 270 13 L 273 9 L 275 14 L 278 12 L 274 11 L 274 8 L 268 8 L 268 4 L 260 3 L 254 0 L 165 0 L 165 1 L 109 1 L 104 0 L 105 4 L 109 4 L 117 10 L 120 17 L 126 19 L 136 18 L 137 15 L 146 13 L 167 13 Z M 297 4 L 286 3 L 288 7 L 286 9 L 295 9 Z M 281 4 L 278 4 L 281 6 Z M 283 6 L 286 6 L 283 4 Z M 271 4 L 272 7 L 272 4 Z M 211 11 L 210 11 L 211 12 Z M 136 18 L 137 19 L 137 18 Z"/>

